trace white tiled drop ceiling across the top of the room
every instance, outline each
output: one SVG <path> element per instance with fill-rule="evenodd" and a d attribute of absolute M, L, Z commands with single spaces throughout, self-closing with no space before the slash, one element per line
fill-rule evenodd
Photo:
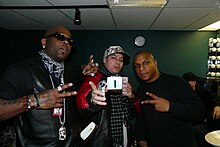
<path fill-rule="evenodd" d="M 111 8 L 108 4 L 107 0 L 0 0 L 0 27 L 45 30 L 61 24 L 70 30 L 184 31 L 220 20 L 220 0 L 167 0 L 163 8 Z M 82 24 L 74 25 L 76 6 L 107 7 L 80 8 Z"/>

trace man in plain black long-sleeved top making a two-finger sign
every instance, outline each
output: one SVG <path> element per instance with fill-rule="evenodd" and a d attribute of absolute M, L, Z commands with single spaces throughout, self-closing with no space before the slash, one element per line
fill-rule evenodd
<path fill-rule="evenodd" d="M 188 83 L 159 72 L 152 53 L 145 50 L 136 53 L 133 65 L 142 81 L 137 90 L 141 106 L 135 125 L 139 145 L 196 147 L 192 122 L 204 118 L 204 107 Z"/>

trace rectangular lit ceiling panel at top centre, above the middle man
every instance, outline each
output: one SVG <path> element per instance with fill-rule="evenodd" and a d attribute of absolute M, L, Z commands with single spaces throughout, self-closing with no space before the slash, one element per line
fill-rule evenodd
<path fill-rule="evenodd" d="M 108 0 L 110 7 L 163 7 L 166 0 Z"/>

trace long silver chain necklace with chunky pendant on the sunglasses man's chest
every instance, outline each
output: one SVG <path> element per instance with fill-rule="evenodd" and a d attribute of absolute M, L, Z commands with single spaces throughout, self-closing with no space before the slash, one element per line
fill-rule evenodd
<path fill-rule="evenodd" d="M 54 83 L 53 83 L 53 79 L 50 76 L 50 81 L 51 81 L 51 84 L 52 84 L 52 87 L 53 89 L 55 88 L 54 86 Z M 61 78 L 61 85 L 64 84 L 64 79 L 63 79 L 63 75 L 62 75 L 62 78 Z M 64 91 L 65 92 L 65 91 Z M 66 102 L 65 102 L 65 98 L 63 98 L 63 120 L 61 118 L 61 114 L 62 114 L 62 108 L 54 108 L 56 109 L 56 112 L 58 112 L 58 116 L 59 116 L 59 121 L 60 121 L 60 124 L 61 124 L 61 127 L 59 128 L 59 140 L 66 140 L 66 128 L 64 127 L 64 124 L 65 124 L 65 121 L 66 121 Z M 54 110 L 55 111 L 55 110 Z"/>

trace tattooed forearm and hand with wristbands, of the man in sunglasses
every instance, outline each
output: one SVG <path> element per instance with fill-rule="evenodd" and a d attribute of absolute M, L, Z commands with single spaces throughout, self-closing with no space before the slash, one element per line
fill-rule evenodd
<path fill-rule="evenodd" d="M 63 106 L 63 98 L 76 95 L 76 91 L 64 92 L 65 89 L 71 87 L 73 84 L 68 83 L 55 89 L 50 89 L 40 92 L 34 96 L 24 96 L 13 100 L 5 100 L 0 98 L 0 122 L 12 118 L 25 111 L 32 109 L 50 109 Z M 38 102 L 36 102 L 36 97 Z M 37 105 L 38 103 L 38 105 Z M 29 106 L 29 107 L 28 107 Z"/>

